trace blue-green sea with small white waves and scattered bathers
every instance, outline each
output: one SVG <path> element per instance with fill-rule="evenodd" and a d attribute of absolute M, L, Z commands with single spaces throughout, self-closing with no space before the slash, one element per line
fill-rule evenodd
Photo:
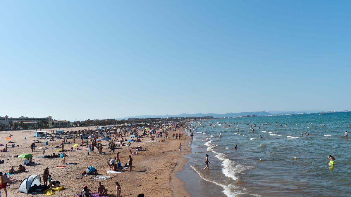
<path fill-rule="evenodd" d="M 177 176 L 192 196 L 351 196 L 350 123 L 351 112 L 193 121 Z"/>

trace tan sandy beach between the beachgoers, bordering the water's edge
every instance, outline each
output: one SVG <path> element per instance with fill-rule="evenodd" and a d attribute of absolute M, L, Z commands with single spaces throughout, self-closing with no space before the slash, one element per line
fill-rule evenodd
<path fill-rule="evenodd" d="M 85 128 L 92 129 L 93 127 L 82 127 L 73 128 L 74 130 L 82 130 Z M 50 131 L 51 129 L 46 129 Z M 71 128 L 66 129 L 68 131 Z M 182 131 L 182 128 L 180 128 Z M 33 160 L 36 163 L 40 163 L 37 166 L 26 166 L 28 172 L 22 172 L 20 174 L 11 175 L 12 178 L 23 180 L 29 175 L 40 175 L 42 179 L 43 171 L 46 167 L 49 168 L 49 174 L 52 175 L 53 180 L 59 180 L 61 185 L 65 187 L 64 190 L 56 191 L 53 196 L 77 196 L 77 193 L 81 193 L 84 185 L 87 185 L 92 192 L 97 191 L 98 182 L 101 181 L 105 188 L 109 191 L 107 192 L 110 196 L 115 196 L 115 182 L 118 181 L 121 185 L 121 195 L 122 196 L 137 196 L 139 193 L 144 193 L 145 196 L 191 196 L 185 190 L 184 182 L 176 177 L 177 171 L 182 170 L 184 163 L 187 161 L 183 155 L 189 154 L 191 152 L 188 146 L 189 136 L 183 132 L 183 138 L 181 140 L 173 140 L 171 131 L 165 142 L 160 142 L 160 140 L 155 140 L 154 142 L 132 142 L 132 147 L 142 146 L 147 148 L 149 151 L 139 151 L 139 154 L 132 155 L 133 158 L 133 171 L 124 171 L 120 174 L 107 174 L 106 172 L 111 168 L 108 166 L 108 159 L 116 157 L 115 154 L 111 154 L 110 149 L 103 149 L 106 155 L 93 154 L 88 156 L 87 152 L 89 149 L 82 149 L 78 151 L 66 152 L 69 156 L 66 156 L 67 163 L 78 163 L 77 165 L 67 165 L 66 168 L 52 168 L 57 165 L 64 165 L 61 163 L 61 158 L 37 158 L 37 156 L 42 156 L 42 150 L 36 149 L 35 152 L 31 151 L 29 145 L 36 140 L 33 137 L 33 130 L 30 131 L 5 131 L 0 133 L 0 143 L 11 145 L 8 141 L 13 141 L 14 144 L 19 147 L 11 148 L 8 147 L 8 152 L 1 152 L 1 159 L 5 160 L 5 163 L 0 164 L 0 171 L 8 172 L 11 165 L 17 170 L 19 164 L 24 163 L 23 158 L 13 157 L 23 153 L 29 153 L 33 155 Z M 172 132 L 173 133 L 173 132 Z M 12 139 L 6 140 L 5 137 L 12 134 Z M 25 137 L 27 138 L 25 140 Z M 130 139 L 127 137 L 127 139 Z M 164 139 L 164 138 L 163 138 Z M 56 141 L 45 142 L 48 140 L 40 140 L 42 143 L 36 143 L 37 147 L 45 146 L 45 155 L 52 153 L 57 153 L 59 148 L 55 148 L 57 144 L 61 141 L 58 139 Z M 150 141 L 148 138 L 143 138 L 143 141 Z M 73 143 L 73 139 L 68 139 L 68 142 Z M 76 143 L 80 142 L 76 139 Z M 179 143 L 182 144 L 183 150 L 179 152 Z M 65 149 L 70 149 L 73 144 L 65 144 Z M 4 147 L 0 147 L 4 148 Z M 122 165 L 128 162 L 129 150 L 127 147 L 122 147 L 116 149 L 115 153 L 120 152 L 120 159 Z M 81 177 L 81 172 L 86 170 L 90 165 L 93 165 L 100 175 L 109 175 L 111 178 L 107 180 L 97 180 L 92 179 L 94 175 Z M 156 178 L 154 178 L 156 177 Z M 43 183 L 43 180 L 41 180 Z M 38 192 L 35 194 L 18 193 L 18 187 L 20 182 L 14 184 L 8 184 L 7 191 L 8 196 L 45 196 L 43 192 Z M 5 196 L 4 190 L 1 190 L 1 196 Z"/>

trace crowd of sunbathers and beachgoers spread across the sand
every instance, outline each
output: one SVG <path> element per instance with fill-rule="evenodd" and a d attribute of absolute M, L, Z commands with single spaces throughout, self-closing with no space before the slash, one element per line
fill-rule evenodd
<path fill-rule="evenodd" d="M 150 127 L 150 128 L 148 128 Z M 181 122 L 171 122 L 168 123 L 167 125 L 150 125 L 150 126 L 144 126 L 144 127 L 117 127 L 114 129 L 109 129 L 109 130 L 98 130 L 100 131 L 99 133 L 94 133 L 94 134 L 87 134 L 83 133 L 82 131 L 81 134 L 75 134 L 75 135 L 59 135 L 56 136 L 56 139 L 62 139 L 62 141 L 59 142 L 59 144 L 53 145 L 53 149 L 60 149 L 61 153 L 59 154 L 49 154 L 45 155 L 45 149 L 46 147 L 41 147 L 40 149 L 43 148 L 43 156 L 42 158 L 62 158 L 61 163 L 62 164 L 67 164 L 66 163 L 66 152 L 68 151 L 77 151 L 77 150 L 83 150 L 88 148 L 89 151 L 87 152 L 87 155 L 91 154 L 115 154 L 115 149 L 121 148 L 121 147 L 126 147 L 127 150 L 129 150 L 130 154 L 128 155 L 127 162 L 124 166 L 121 165 L 121 158 L 120 158 L 120 152 L 117 152 L 116 156 L 111 159 L 108 162 L 108 167 L 112 171 L 118 171 L 122 172 L 124 170 L 128 171 L 133 171 L 133 158 L 132 155 L 138 155 L 140 154 L 140 151 L 148 151 L 147 148 L 141 147 L 141 146 L 136 146 L 132 147 L 132 142 L 133 143 L 138 143 L 138 142 L 144 142 L 146 140 L 148 141 L 155 141 L 157 138 L 161 140 L 161 142 L 164 142 L 168 138 L 168 134 L 170 131 L 173 131 L 173 140 L 174 137 L 176 136 L 176 140 L 179 140 L 183 138 L 183 132 L 180 130 L 180 127 L 185 127 L 184 123 Z M 53 131 L 51 133 L 54 133 Z M 11 134 L 10 134 L 11 135 Z M 127 140 L 127 136 L 130 136 L 130 140 Z M 80 138 L 81 143 L 80 144 L 75 144 L 76 138 Z M 162 139 L 164 138 L 164 139 Z M 102 140 L 106 140 L 105 145 L 102 144 Z M 70 141 L 68 141 L 70 140 Z M 72 140 L 72 142 L 71 142 Z M 39 140 L 33 140 L 29 145 L 29 148 L 31 148 L 32 152 L 37 152 L 37 143 L 42 143 Z M 54 137 L 50 138 L 49 142 L 55 142 L 57 140 L 54 140 Z M 71 148 L 66 150 L 66 146 L 72 144 Z M 105 151 L 104 151 L 105 149 Z M 182 149 L 181 143 L 179 144 L 179 152 Z M 7 144 L 4 149 L 4 151 L 7 152 Z M 30 155 L 30 154 L 28 154 Z M 18 155 L 16 155 L 18 157 Z M 72 160 L 74 160 L 72 158 Z M 4 162 L 4 160 L 2 160 Z M 0 160 L 1 163 L 1 160 Z M 15 170 L 14 166 L 12 165 L 11 168 L 8 170 L 8 174 L 15 175 L 19 174 L 22 172 L 27 172 L 26 166 L 32 166 L 32 165 L 40 165 L 40 163 L 36 163 L 33 161 L 33 157 L 25 157 L 25 161 L 23 164 L 20 164 L 18 169 Z M 92 167 L 92 166 L 91 166 Z M 55 167 L 52 167 L 55 168 Z M 92 167 L 88 168 L 86 171 L 82 173 L 82 175 L 97 175 L 97 169 Z M 20 180 L 16 180 L 11 177 L 7 177 L 6 174 L 2 174 L 0 172 L 1 176 L 1 185 L 0 185 L 0 195 L 1 195 L 1 189 L 5 190 L 6 196 L 7 196 L 7 190 L 6 190 L 6 185 L 7 183 L 15 183 L 19 182 Z M 44 191 L 49 188 L 59 188 L 60 187 L 60 181 L 57 179 L 53 179 L 52 175 L 49 173 L 49 168 L 46 167 L 45 170 L 42 173 L 42 185 L 32 185 L 29 191 L 34 192 L 34 191 Z M 119 185 L 118 182 L 115 183 L 116 185 L 116 196 L 121 195 L 121 186 Z M 108 190 L 105 188 L 104 185 L 99 182 L 98 189 L 97 189 L 97 195 L 99 196 L 106 196 Z M 81 196 L 83 197 L 90 197 L 92 195 L 92 191 L 88 189 L 87 185 L 84 186 L 84 188 L 81 190 Z"/>

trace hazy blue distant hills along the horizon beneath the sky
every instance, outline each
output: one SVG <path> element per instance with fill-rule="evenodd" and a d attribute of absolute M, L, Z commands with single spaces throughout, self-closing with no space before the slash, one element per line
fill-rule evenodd
<path fill-rule="evenodd" d="M 256 111 L 256 112 L 240 112 L 240 113 L 226 113 L 226 114 L 178 114 L 178 115 L 140 115 L 140 116 L 128 116 L 123 117 L 123 119 L 128 118 L 167 118 L 167 117 L 203 117 L 203 116 L 213 116 L 214 118 L 222 118 L 222 117 L 236 117 L 236 116 L 246 116 L 246 115 L 257 115 L 257 116 L 269 116 L 269 115 L 277 115 L 277 114 L 302 114 L 302 113 L 318 113 L 320 110 L 306 110 L 306 111 Z M 121 118 L 117 118 L 121 119 Z"/>

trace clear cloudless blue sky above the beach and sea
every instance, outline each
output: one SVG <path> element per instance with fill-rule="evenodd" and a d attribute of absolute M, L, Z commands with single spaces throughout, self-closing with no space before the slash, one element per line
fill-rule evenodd
<path fill-rule="evenodd" d="M 351 1 L 1 1 L 0 116 L 344 110 Z"/>

